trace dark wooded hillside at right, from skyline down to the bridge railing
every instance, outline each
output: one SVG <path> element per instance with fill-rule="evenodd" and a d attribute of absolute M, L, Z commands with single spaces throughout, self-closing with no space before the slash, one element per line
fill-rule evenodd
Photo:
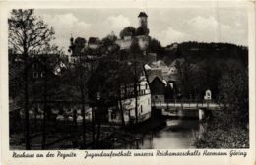
<path fill-rule="evenodd" d="M 217 98 L 224 75 L 247 72 L 248 48 L 228 43 L 183 42 L 168 45 L 158 53 L 158 60 L 167 66 L 175 59 L 184 59 L 178 70 L 185 97 L 199 94 L 202 98 L 210 89 Z"/>

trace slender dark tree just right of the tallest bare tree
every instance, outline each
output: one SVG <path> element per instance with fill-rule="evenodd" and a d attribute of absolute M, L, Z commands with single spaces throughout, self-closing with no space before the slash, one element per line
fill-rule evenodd
<path fill-rule="evenodd" d="M 42 124 L 42 143 L 41 148 L 46 147 L 47 136 L 47 122 L 50 116 L 50 109 L 48 106 L 49 100 L 56 100 L 59 93 L 58 86 L 58 72 L 62 68 L 62 65 L 66 62 L 64 52 L 55 45 L 48 45 L 45 47 L 42 54 L 37 54 L 35 59 L 42 65 L 42 72 L 44 73 L 42 79 L 36 79 L 32 83 L 33 88 L 37 88 L 38 91 L 32 91 L 30 95 L 35 95 L 34 98 L 42 100 L 43 106 L 43 124 Z M 33 58 L 34 59 L 34 58 Z M 36 112 L 34 112 L 36 113 Z"/>

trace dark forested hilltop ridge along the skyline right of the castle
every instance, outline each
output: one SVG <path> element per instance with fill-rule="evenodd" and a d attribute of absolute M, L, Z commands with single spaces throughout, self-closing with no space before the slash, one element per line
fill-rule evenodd
<path fill-rule="evenodd" d="M 248 65 L 248 48 L 229 43 L 182 42 L 166 46 L 158 59 L 169 65 L 176 58 L 187 58 L 191 63 L 202 61 L 236 61 Z"/>

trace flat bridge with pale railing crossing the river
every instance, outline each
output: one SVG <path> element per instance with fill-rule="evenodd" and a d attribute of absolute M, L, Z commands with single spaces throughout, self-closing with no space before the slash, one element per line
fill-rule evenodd
<path fill-rule="evenodd" d="M 194 99 L 167 99 L 165 101 L 153 101 L 152 107 L 165 110 L 220 110 L 221 105 L 214 100 Z"/>

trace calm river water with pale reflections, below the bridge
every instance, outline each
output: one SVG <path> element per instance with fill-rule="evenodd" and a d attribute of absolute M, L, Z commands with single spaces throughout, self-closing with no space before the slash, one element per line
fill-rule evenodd
<path fill-rule="evenodd" d="M 188 149 L 193 134 L 199 132 L 198 120 L 166 120 L 166 126 L 158 131 L 146 134 L 141 140 L 121 146 L 119 149 Z"/>

